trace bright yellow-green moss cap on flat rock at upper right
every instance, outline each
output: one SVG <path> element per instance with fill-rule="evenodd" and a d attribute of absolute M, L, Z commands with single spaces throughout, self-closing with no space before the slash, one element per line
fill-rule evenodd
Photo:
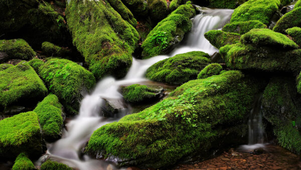
<path fill-rule="evenodd" d="M 241 36 L 240 42 L 255 45 L 273 46 L 275 48 L 296 49 L 297 44 L 285 35 L 270 29 L 253 29 Z"/>

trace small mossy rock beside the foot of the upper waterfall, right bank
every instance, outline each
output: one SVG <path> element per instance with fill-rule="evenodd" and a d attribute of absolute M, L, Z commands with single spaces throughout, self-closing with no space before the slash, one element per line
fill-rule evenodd
<path fill-rule="evenodd" d="M 221 30 L 208 31 L 204 36 L 216 48 L 227 44 L 236 44 L 240 39 L 240 35 L 237 33 L 227 33 Z"/>

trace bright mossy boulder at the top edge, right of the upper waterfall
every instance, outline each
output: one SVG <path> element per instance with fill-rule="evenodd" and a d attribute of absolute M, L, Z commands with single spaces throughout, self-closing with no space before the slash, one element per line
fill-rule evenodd
<path fill-rule="evenodd" d="M 267 25 L 279 5 L 279 0 L 249 0 L 234 10 L 230 23 L 258 20 Z"/>

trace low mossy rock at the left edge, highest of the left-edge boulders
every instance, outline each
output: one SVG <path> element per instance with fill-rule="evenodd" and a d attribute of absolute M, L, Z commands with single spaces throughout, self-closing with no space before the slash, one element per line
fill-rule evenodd
<path fill-rule="evenodd" d="M 9 55 L 9 59 L 29 60 L 36 56 L 36 52 L 23 39 L 0 40 L 0 52 L 5 52 Z M 6 60 L 0 60 L 5 62 Z"/>

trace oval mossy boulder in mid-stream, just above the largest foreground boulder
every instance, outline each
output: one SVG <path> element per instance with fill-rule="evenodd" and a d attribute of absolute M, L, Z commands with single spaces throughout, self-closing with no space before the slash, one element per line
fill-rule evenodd
<path fill-rule="evenodd" d="M 146 70 L 146 77 L 171 84 L 181 84 L 197 78 L 198 73 L 211 61 L 202 51 L 178 54 L 159 61 Z"/>

